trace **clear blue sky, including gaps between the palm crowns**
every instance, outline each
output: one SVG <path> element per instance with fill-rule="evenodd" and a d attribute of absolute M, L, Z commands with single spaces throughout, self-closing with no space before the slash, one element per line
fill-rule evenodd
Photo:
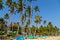
<path fill-rule="evenodd" d="M 38 14 L 42 16 L 42 20 L 47 20 L 48 22 L 52 22 L 52 24 L 56 25 L 60 28 L 60 0 L 38 0 L 36 3 L 31 3 L 32 6 L 39 6 L 40 12 Z M 3 11 L 0 10 L 0 17 L 4 17 L 4 14 L 8 12 L 8 8 L 4 8 Z M 34 12 L 35 13 L 35 12 Z M 36 15 L 35 13 L 34 15 Z M 12 15 L 10 14 L 9 21 L 18 22 L 19 21 L 19 14 Z M 15 18 L 14 18 L 15 17 Z M 17 20 L 18 19 L 18 20 Z M 34 20 L 34 16 L 32 18 Z M 34 22 L 32 20 L 32 24 Z"/>

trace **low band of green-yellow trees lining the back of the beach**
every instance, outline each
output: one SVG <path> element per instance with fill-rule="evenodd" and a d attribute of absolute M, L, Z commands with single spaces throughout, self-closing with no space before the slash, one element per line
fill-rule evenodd
<path fill-rule="evenodd" d="M 36 22 L 35 22 L 36 23 Z M 10 24 L 8 27 L 6 27 L 5 25 L 5 22 L 4 22 L 4 19 L 3 18 L 0 18 L 0 31 L 7 31 L 6 28 L 9 27 L 9 30 L 10 31 L 16 31 L 17 34 L 21 34 L 21 29 L 23 27 L 21 27 L 19 25 L 19 22 L 17 23 L 12 23 Z M 44 25 L 46 24 L 46 20 L 44 20 Z M 7 24 L 6 24 L 7 25 Z M 12 25 L 12 26 L 11 26 Z M 51 22 L 49 22 L 47 25 L 43 26 L 43 25 L 40 25 L 39 27 L 37 26 L 34 26 L 32 25 L 32 27 L 29 27 L 28 26 L 29 24 L 26 24 L 26 26 L 24 27 L 24 32 L 25 33 L 29 33 L 30 31 L 30 34 L 31 35 L 50 35 L 50 36 L 53 36 L 53 35 L 59 35 L 59 28 L 57 28 L 56 26 L 54 26 Z M 13 30 L 12 30 L 13 28 Z M 30 30 L 29 30 L 30 29 Z M 28 35 L 28 34 L 27 34 Z"/>

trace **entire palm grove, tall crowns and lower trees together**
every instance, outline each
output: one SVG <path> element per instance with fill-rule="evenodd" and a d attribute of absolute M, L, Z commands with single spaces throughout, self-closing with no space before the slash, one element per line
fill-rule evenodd
<path fill-rule="evenodd" d="M 53 26 L 51 22 L 48 23 L 46 26 L 46 20 L 44 20 L 44 26 L 41 25 L 38 27 L 37 25 L 41 23 L 42 17 L 39 15 L 35 16 L 34 22 L 36 23 L 36 26 L 30 27 L 30 24 L 32 23 L 32 15 L 33 12 L 37 13 L 40 12 L 39 7 L 31 6 L 31 4 L 26 4 L 27 2 L 32 3 L 33 0 L 6 0 L 5 4 L 3 3 L 3 0 L 0 0 L 0 9 L 3 9 L 3 7 L 7 6 L 8 13 L 4 15 L 4 19 L 0 18 L 0 29 L 3 31 L 16 31 L 18 34 L 35 34 L 35 35 L 57 35 L 58 34 L 58 28 Z M 7 19 L 9 19 L 11 16 L 10 14 L 20 14 L 20 22 L 12 23 L 10 26 L 7 24 Z M 18 19 L 17 19 L 18 20 Z M 13 25 L 14 24 L 14 25 Z"/>

